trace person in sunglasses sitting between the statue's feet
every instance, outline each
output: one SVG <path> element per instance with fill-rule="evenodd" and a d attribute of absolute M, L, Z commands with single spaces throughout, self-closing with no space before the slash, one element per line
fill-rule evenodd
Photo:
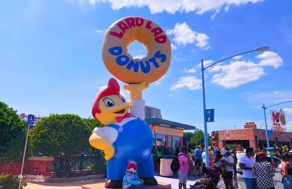
<path fill-rule="evenodd" d="M 129 172 L 124 176 L 123 189 L 144 189 L 144 181 L 134 174 L 134 169 L 129 169 Z"/>

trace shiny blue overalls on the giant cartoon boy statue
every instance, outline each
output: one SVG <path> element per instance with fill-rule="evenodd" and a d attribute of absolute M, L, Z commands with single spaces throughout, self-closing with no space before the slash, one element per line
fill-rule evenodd
<path fill-rule="evenodd" d="M 151 156 L 154 144 L 153 132 L 144 120 L 135 118 L 137 119 L 131 120 L 123 126 L 107 125 L 119 132 L 117 140 L 113 143 L 115 154 L 107 162 L 107 179 L 109 180 L 122 180 L 129 163 L 136 164 L 139 177 L 154 176 Z"/>

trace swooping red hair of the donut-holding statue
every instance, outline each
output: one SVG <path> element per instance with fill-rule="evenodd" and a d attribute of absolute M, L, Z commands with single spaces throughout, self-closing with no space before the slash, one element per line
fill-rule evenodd
<path fill-rule="evenodd" d="M 119 95 L 119 94 L 120 94 L 119 83 L 114 78 L 110 78 L 107 83 L 107 86 L 104 89 L 102 89 L 100 92 L 98 92 L 98 94 L 96 95 L 93 101 L 93 105 L 92 105 L 93 118 L 98 120 L 98 118 L 95 117 L 95 114 L 101 112 L 99 108 L 100 99 L 109 95 Z"/>

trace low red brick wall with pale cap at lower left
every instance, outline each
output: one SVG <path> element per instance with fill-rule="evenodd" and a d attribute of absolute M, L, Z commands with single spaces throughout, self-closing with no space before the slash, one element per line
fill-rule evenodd
<path fill-rule="evenodd" d="M 23 164 L 22 175 L 51 176 L 53 157 L 29 157 Z M 0 174 L 20 175 L 22 163 L 0 164 Z M 36 169 L 37 171 L 34 171 Z"/>

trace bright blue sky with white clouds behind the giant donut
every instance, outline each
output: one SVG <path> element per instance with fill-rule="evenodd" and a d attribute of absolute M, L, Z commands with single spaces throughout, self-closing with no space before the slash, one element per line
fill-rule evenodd
<path fill-rule="evenodd" d="M 205 71 L 206 106 L 215 108 L 208 131 L 243 128 L 252 121 L 259 128 L 262 103 L 292 99 L 291 6 L 289 0 L 0 1 L 0 100 L 18 113 L 91 116 L 95 95 L 111 77 L 100 53 L 105 30 L 120 18 L 140 16 L 158 23 L 172 43 L 170 68 L 143 92 L 146 104 L 161 109 L 164 119 L 199 129 L 200 60 L 211 64 L 269 46 L 267 52 L 249 53 Z M 128 52 L 133 57 L 147 53 L 137 41 Z M 291 130 L 292 104 L 271 110 L 279 108 L 286 108 Z"/>

